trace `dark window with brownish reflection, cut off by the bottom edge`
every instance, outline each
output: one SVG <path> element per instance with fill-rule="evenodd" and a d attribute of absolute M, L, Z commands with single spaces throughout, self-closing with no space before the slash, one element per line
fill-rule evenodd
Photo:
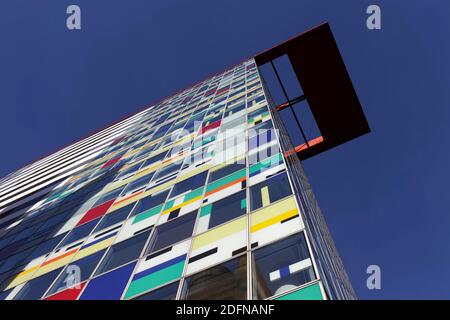
<path fill-rule="evenodd" d="M 239 256 L 186 278 L 181 299 L 247 299 L 247 256 Z"/>

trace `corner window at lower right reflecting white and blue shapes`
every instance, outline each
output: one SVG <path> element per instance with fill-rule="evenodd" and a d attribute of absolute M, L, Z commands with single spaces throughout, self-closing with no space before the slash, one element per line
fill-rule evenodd
<path fill-rule="evenodd" d="M 265 299 L 314 280 L 303 233 L 253 252 L 253 298 Z"/>

